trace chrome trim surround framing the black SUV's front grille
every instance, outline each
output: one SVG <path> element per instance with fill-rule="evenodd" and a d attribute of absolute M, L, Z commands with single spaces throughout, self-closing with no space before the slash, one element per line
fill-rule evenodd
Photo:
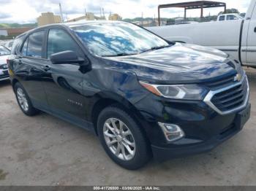
<path fill-rule="evenodd" d="M 211 103 L 211 98 L 214 97 L 214 95 L 216 95 L 217 93 L 221 93 L 223 91 L 226 91 L 226 90 L 230 90 L 231 88 L 233 87 L 236 87 L 238 85 L 242 85 L 242 83 L 244 82 L 244 80 L 246 80 L 246 84 L 247 84 L 247 92 L 246 92 L 246 98 L 244 100 L 244 104 L 242 104 L 241 106 L 238 106 L 237 108 L 235 109 L 230 109 L 226 112 L 222 112 L 220 111 L 217 106 L 214 106 L 214 104 Z M 219 113 L 219 114 L 222 114 L 222 115 L 225 115 L 225 114 L 230 114 L 230 113 L 233 113 L 233 112 L 237 112 L 238 110 L 241 110 L 241 109 L 244 109 L 246 107 L 246 104 L 248 103 L 249 101 L 249 82 L 248 82 L 248 79 L 246 77 L 246 74 L 244 74 L 244 77 L 243 79 L 234 84 L 234 85 L 230 85 L 230 86 L 227 86 L 227 87 L 224 87 L 222 89 L 219 89 L 219 90 L 214 90 L 214 91 L 209 91 L 209 93 L 206 95 L 206 98 L 204 98 L 203 100 L 208 106 L 211 107 L 211 109 L 214 109 L 215 112 Z"/>

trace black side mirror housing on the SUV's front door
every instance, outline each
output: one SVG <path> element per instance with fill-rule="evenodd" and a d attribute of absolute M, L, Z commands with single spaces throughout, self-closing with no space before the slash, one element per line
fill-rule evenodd
<path fill-rule="evenodd" d="M 53 55 L 50 55 L 50 61 L 53 64 L 79 64 L 87 65 L 88 62 L 83 58 L 78 58 L 78 55 L 71 50 L 58 52 Z"/>

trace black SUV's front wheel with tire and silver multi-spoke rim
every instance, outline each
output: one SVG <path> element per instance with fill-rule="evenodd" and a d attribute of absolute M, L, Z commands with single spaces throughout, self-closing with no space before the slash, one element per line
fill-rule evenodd
<path fill-rule="evenodd" d="M 104 109 L 98 117 L 99 140 L 108 156 L 118 165 L 135 170 L 151 159 L 146 136 L 128 112 L 117 106 Z"/>

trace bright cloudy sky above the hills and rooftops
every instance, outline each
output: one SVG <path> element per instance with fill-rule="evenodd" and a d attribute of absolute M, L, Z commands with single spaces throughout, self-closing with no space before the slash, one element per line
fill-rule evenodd
<path fill-rule="evenodd" d="M 184 0 L 191 1 L 191 0 Z M 0 23 L 36 23 L 41 12 L 59 15 L 59 3 L 64 20 L 93 12 L 100 15 L 101 7 L 105 16 L 117 13 L 123 18 L 157 17 L 159 4 L 184 2 L 182 0 L 0 0 Z M 251 0 L 219 0 L 227 3 L 227 9 L 236 8 L 246 12 Z M 205 9 L 204 15 L 217 15 L 223 8 Z M 161 17 L 183 16 L 183 9 L 162 9 Z M 200 9 L 189 10 L 187 17 L 200 17 Z"/>

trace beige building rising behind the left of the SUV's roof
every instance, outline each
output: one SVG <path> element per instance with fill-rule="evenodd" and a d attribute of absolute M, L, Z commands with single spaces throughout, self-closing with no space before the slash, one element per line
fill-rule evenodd
<path fill-rule="evenodd" d="M 54 15 L 53 12 L 42 12 L 41 16 L 37 18 L 38 26 L 45 26 L 53 23 L 61 23 L 61 16 Z"/>

